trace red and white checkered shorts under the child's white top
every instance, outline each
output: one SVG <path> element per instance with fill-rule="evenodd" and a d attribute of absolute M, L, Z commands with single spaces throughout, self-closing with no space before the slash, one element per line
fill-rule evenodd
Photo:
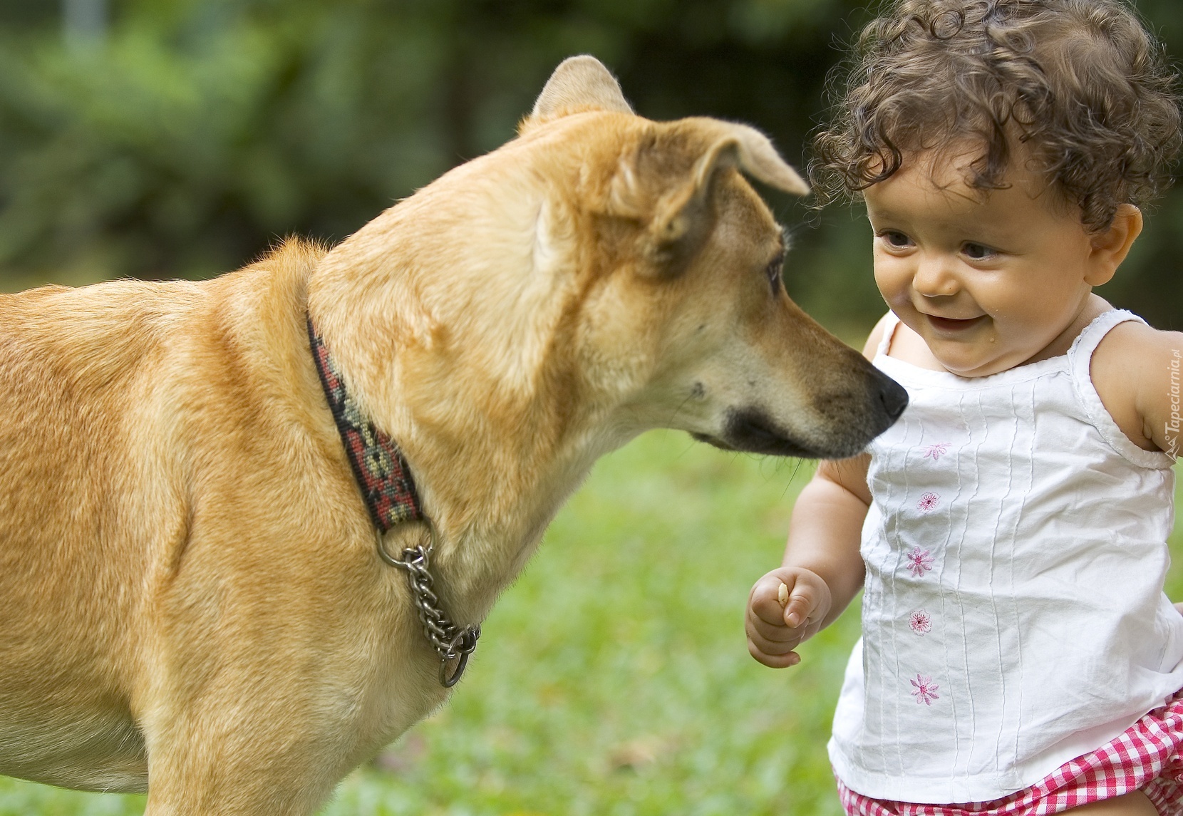
<path fill-rule="evenodd" d="M 1183 691 L 1111 743 L 993 802 L 911 804 L 872 799 L 838 782 L 848 816 L 1043 816 L 1140 790 L 1162 816 L 1183 816 Z"/>

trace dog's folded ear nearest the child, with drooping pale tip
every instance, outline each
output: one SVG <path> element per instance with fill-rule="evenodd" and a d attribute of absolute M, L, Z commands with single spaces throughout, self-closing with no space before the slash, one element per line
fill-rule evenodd
<path fill-rule="evenodd" d="M 675 273 L 706 239 L 715 220 L 713 190 L 720 174 L 736 168 L 769 187 L 808 195 L 809 186 L 789 167 L 764 134 L 718 119 L 684 119 L 703 135 L 705 145 L 690 177 L 658 202 L 649 222 L 651 254 L 659 267 Z"/>

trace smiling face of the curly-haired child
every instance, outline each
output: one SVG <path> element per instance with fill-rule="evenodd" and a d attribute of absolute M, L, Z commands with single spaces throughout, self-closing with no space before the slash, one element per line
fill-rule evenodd
<path fill-rule="evenodd" d="M 1062 339 L 1112 268 L 1104 274 L 1095 240 L 1037 175 L 1015 167 L 1008 188 L 987 193 L 961 167 L 905 161 L 866 190 L 867 215 L 887 305 L 948 370 L 984 376 Z"/>

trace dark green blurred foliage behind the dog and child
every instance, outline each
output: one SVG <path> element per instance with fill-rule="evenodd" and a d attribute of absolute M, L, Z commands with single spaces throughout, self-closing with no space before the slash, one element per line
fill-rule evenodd
<path fill-rule="evenodd" d="M 79 0 L 73 0 L 78 2 Z M 99 0 L 93 0 L 99 1 Z M 511 138 L 549 72 L 594 53 L 652 118 L 751 122 L 803 163 L 865 0 L 0 0 L 0 287 L 207 277 L 290 233 L 336 241 Z M 1143 11 L 1183 53 L 1176 0 Z M 769 194 L 790 292 L 845 332 L 883 311 L 856 213 Z M 1183 329 L 1183 194 L 1106 294 Z"/>

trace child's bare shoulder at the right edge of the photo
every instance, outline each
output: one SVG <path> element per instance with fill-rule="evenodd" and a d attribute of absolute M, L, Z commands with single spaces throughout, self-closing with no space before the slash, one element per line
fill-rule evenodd
<path fill-rule="evenodd" d="M 1174 453 L 1181 369 L 1183 333 L 1127 320 L 1101 339 L 1090 374 L 1101 403 L 1130 441 L 1146 451 Z"/>

